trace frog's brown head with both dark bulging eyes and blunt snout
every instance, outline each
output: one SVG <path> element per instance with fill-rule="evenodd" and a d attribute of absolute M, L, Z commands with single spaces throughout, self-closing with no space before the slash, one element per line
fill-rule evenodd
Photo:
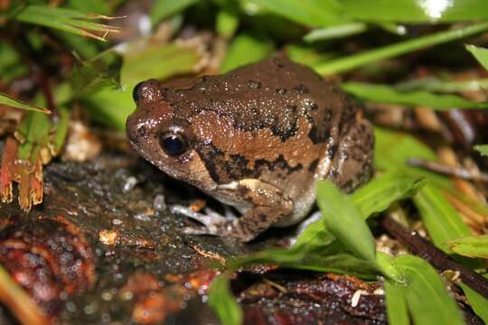
<path fill-rule="evenodd" d="M 164 100 L 159 81 L 149 79 L 137 84 L 133 97 L 137 109 L 127 118 L 127 137 L 133 148 L 175 179 L 202 190 L 214 186 L 194 150 L 196 139 L 192 125 L 175 116 L 174 107 Z"/>

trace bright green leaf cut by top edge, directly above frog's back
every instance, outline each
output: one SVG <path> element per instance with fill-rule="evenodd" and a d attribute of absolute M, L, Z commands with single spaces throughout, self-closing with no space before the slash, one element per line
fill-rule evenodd
<path fill-rule="evenodd" d="M 251 0 L 270 13 L 306 26 L 328 26 L 343 21 L 342 8 L 336 0 Z"/>

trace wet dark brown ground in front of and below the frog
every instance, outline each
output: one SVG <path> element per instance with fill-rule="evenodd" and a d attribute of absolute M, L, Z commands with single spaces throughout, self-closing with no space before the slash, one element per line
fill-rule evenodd
<path fill-rule="evenodd" d="M 167 207 L 208 198 L 136 155 L 54 162 L 44 180 L 44 201 L 28 215 L 1 206 L 1 258 L 61 323 L 219 323 L 205 302 L 222 264 L 286 244 L 283 231 L 250 245 L 183 235 L 192 221 Z M 232 289 L 249 324 L 386 323 L 380 286 L 349 276 L 257 267 Z M 14 323 L 6 311 L 0 320 Z"/>

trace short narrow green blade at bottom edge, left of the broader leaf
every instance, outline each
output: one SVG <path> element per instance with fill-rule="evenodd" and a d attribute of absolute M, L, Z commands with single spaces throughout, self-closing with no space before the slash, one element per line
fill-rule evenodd
<path fill-rule="evenodd" d="M 390 325 L 409 325 L 407 301 L 404 288 L 390 280 L 384 282 L 388 323 Z"/>

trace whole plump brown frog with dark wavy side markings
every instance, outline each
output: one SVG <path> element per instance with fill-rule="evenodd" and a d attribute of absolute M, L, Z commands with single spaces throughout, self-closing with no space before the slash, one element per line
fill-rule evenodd
<path fill-rule="evenodd" d="M 240 218 L 177 211 L 202 222 L 188 234 L 247 242 L 303 219 L 314 183 L 345 192 L 372 172 L 373 133 L 358 105 L 313 70 L 282 57 L 218 76 L 134 89 L 127 136 L 146 160 L 234 206 Z"/>

